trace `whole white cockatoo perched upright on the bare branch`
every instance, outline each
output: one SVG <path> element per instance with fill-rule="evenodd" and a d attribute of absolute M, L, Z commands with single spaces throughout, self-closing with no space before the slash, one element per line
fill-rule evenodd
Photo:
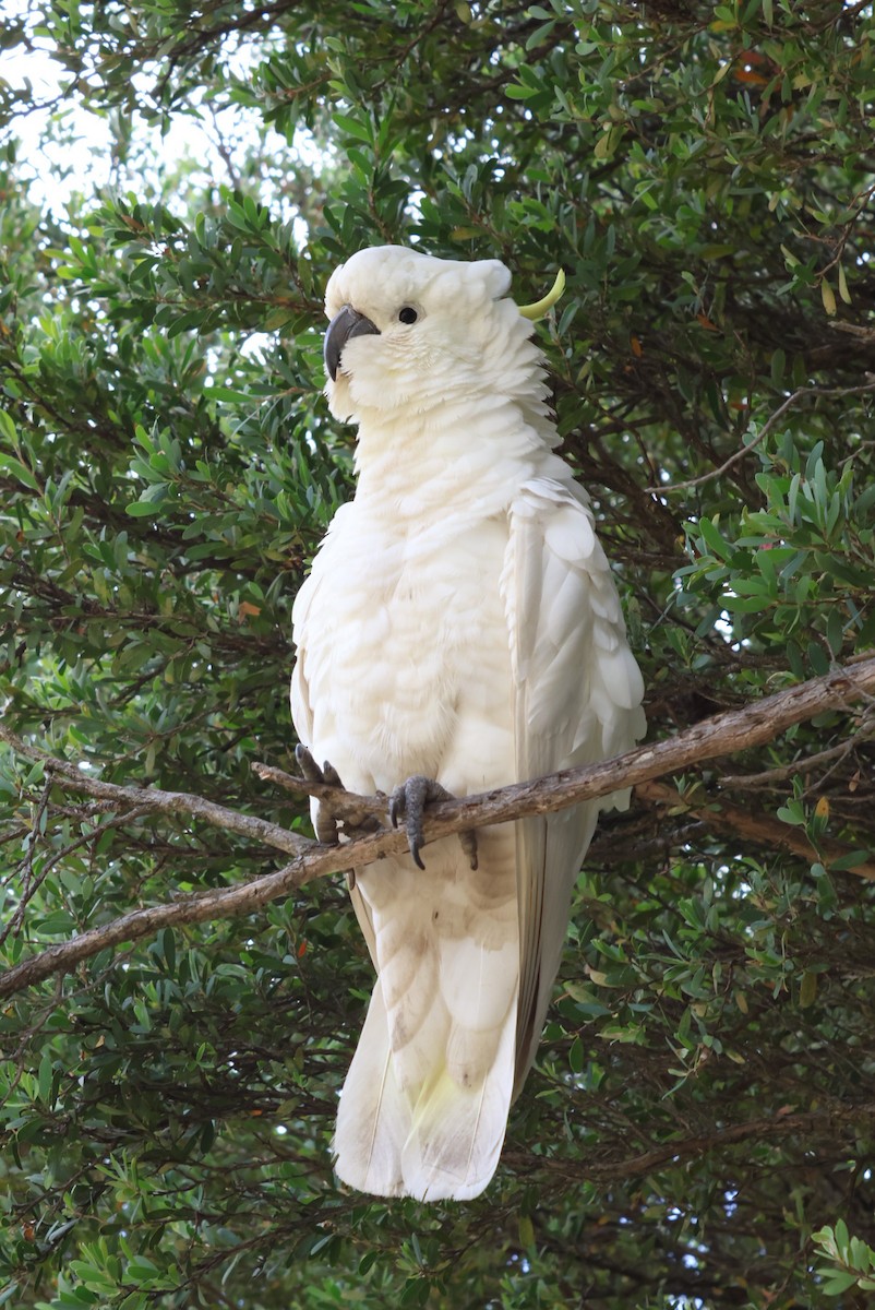
<path fill-rule="evenodd" d="M 419 776 L 396 794 L 413 853 L 356 869 L 351 888 L 377 979 L 335 1167 L 377 1196 L 464 1200 L 490 1182 L 610 803 L 481 828 L 474 859 L 436 841 L 423 871 L 423 779 L 465 795 L 643 732 L 610 569 L 554 453 L 544 356 L 510 283 L 496 259 L 381 246 L 337 269 L 325 301 L 326 394 L 358 424 L 358 487 L 295 603 L 292 715 L 352 791 Z"/>

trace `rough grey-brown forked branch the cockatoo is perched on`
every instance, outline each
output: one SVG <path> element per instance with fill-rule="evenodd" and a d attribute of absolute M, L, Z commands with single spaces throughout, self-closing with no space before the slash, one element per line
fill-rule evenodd
<path fill-rule="evenodd" d="M 458 800 L 441 800 L 431 806 L 426 814 L 424 836 L 427 841 L 436 841 L 466 828 L 549 814 L 582 800 L 595 800 L 624 787 L 680 773 L 706 760 L 762 745 L 778 738 L 794 723 L 803 723 L 828 710 L 842 710 L 861 700 L 871 702 L 874 698 L 875 655 L 867 655 L 824 677 L 764 697 L 744 709 L 718 714 L 685 728 L 673 738 L 654 745 L 637 747 L 613 760 L 584 769 L 566 769 L 546 778 L 496 787 Z M 72 941 L 50 946 L 0 975 L 0 997 L 14 996 L 55 973 L 68 973 L 83 960 L 106 947 L 153 937 L 162 927 L 249 914 L 317 878 L 351 866 L 369 865 L 382 855 L 402 854 L 407 849 L 406 834 L 392 829 L 341 846 L 322 846 L 276 824 L 227 810 L 202 796 L 157 789 L 119 787 L 101 782 L 76 765 L 56 760 L 29 745 L 3 723 L 0 723 L 0 740 L 26 758 L 42 760 L 58 785 L 65 790 L 83 791 L 102 800 L 115 800 L 119 807 L 135 807 L 140 814 L 187 814 L 293 857 L 282 869 L 255 878 L 250 883 L 214 888 L 169 904 L 135 909 Z M 293 785 L 300 791 L 318 795 L 320 799 L 330 799 L 335 811 L 346 806 L 360 814 L 363 810 L 375 811 L 375 807 L 380 806 L 380 812 L 384 812 L 385 800 L 379 798 L 351 796 L 342 789 L 327 787 L 325 783 L 292 779 L 289 774 L 280 774 L 280 770 L 269 765 L 254 768 L 266 781 L 282 786 Z M 859 866 L 854 872 L 872 878 L 871 866 L 866 866 L 865 870 Z"/>

